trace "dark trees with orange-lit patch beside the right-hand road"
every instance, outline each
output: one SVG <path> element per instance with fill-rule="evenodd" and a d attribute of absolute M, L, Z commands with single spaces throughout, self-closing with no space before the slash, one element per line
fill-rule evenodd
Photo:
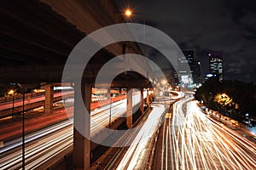
<path fill-rule="evenodd" d="M 239 119 L 246 113 L 256 116 L 256 88 L 252 83 L 224 80 L 212 77 L 195 93 L 195 99 L 214 111 Z"/>

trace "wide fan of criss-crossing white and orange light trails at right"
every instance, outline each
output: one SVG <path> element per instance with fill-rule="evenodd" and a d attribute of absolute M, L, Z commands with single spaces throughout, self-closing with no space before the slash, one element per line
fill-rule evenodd
<path fill-rule="evenodd" d="M 212 122 L 189 99 L 173 105 L 169 124 L 172 133 L 166 132 L 172 138 L 168 145 L 173 149 L 169 148 L 175 152 L 175 166 L 170 169 L 256 169 L 255 144 L 236 131 Z M 182 107 L 186 102 L 184 113 Z"/>

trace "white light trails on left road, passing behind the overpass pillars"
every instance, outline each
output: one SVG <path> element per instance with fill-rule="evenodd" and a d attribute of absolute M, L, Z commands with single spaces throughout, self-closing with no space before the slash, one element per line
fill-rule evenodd
<path fill-rule="evenodd" d="M 135 94 L 132 97 L 135 105 L 138 105 L 141 100 L 140 94 Z M 102 109 L 92 111 L 92 123 L 90 124 L 90 135 L 92 138 L 96 133 L 101 131 L 100 127 L 108 126 L 109 122 L 106 117 L 109 117 L 109 109 L 109 105 L 106 105 L 103 106 Z M 126 99 L 114 102 L 112 105 L 112 121 L 119 116 L 123 116 L 125 111 Z M 26 137 L 28 137 L 26 138 L 26 169 L 49 166 L 48 161 L 55 160 L 55 156 L 63 155 L 63 153 L 67 154 L 68 151 L 72 151 L 73 118 L 40 130 L 37 133 L 27 135 Z M 21 150 L 15 150 L 15 148 L 18 148 L 20 145 L 21 142 L 15 140 L 15 142 L 9 142 L 7 148 L 0 150 L 0 169 L 21 168 Z M 63 156 L 65 156 L 65 154 Z"/>

